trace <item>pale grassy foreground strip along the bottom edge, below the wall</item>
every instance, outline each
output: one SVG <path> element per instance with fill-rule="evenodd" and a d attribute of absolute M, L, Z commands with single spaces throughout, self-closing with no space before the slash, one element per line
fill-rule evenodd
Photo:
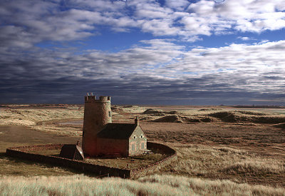
<path fill-rule="evenodd" d="M 3 177 L 0 195 L 284 195 L 284 188 L 152 175 L 139 180 L 61 177 Z"/>

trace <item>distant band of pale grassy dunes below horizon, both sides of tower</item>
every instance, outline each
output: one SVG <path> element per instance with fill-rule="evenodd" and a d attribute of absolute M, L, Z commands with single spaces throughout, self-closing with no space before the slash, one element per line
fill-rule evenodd
<path fill-rule="evenodd" d="M 251 122 L 251 123 L 285 123 L 285 115 L 261 113 L 257 111 L 242 110 L 180 110 L 163 112 L 153 110 L 153 113 L 145 114 L 145 108 L 139 106 L 114 106 L 114 120 L 133 121 L 135 115 L 140 119 L 155 122 L 169 123 L 209 123 L 209 122 Z M 123 115 L 120 115 L 122 113 Z M 174 115 L 173 115 L 174 114 Z M 128 118 L 125 118 L 127 115 Z M 81 135 L 81 126 L 58 125 L 58 121 L 75 120 L 83 118 L 83 108 L 73 106 L 71 108 L 6 108 L 1 110 L 0 125 L 24 125 L 33 130 L 46 131 L 59 135 Z M 1 134 L 1 133 L 0 133 Z"/>

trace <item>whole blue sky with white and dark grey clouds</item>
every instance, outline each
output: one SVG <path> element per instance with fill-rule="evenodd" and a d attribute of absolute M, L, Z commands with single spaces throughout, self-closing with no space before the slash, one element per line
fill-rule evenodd
<path fill-rule="evenodd" d="M 285 105 L 285 0 L 0 1 L 0 103 Z"/>

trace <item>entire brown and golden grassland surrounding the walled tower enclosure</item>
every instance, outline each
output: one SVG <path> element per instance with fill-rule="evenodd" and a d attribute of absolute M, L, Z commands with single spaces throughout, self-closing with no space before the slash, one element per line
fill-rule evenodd
<path fill-rule="evenodd" d="M 122 189 L 119 192 L 121 195 L 124 192 L 128 195 L 163 195 L 165 192 L 173 195 L 284 195 L 285 115 L 281 110 L 279 113 L 270 113 L 269 110 L 264 112 L 240 108 L 174 110 L 160 107 L 153 109 L 156 111 L 143 113 L 145 109 L 147 108 L 117 106 L 113 121 L 133 123 L 138 115 L 142 119 L 140 125 L 148 140 L 175 148 L 177 162 L 161 168 L 161 175 L 138 180 L 99 180 L 76 175 L 73 170 L 7 158 L 4 155 L 6 148 L 12 146 L 76 143 L 76 140 L 81 140 L 82 125 L 62 122 L 81 120 L 83 108 L 76 105 L 71 108 L 2 108 L 0 191 L 6 191 L 2 195 L 11 195 L 10 191 L 18 191 L 13 186 L 17 183 L 23 184 L 23 180 L 26 183 L 19 186 L 19 192 L 36 192 L 36 195 L 38 191 L 48 192 L 47 195 L 53 195 L 53 192 L 57 195 L 69 195 L 71 191 L 75 191 L 72 194 L 76 195 L 77 190 L 83 195 L 100 195 L 103 193 L 100 191 L 105 190 L 103 194 L 108 195 L 110 192 L 118 193 L 119 189 Z M 170 118 L 166 118 L 166 121 L 160 120 L 165 116 Z M 64 179 L 61 184 L 56 183 L 56 180 L 39 177 L 42 175 L 70 176 L 56 177 Z M 14 176 L 37 177 L 26 179 Z M 78 177 L 80 180 L 77 180 Z M 41 185 L 33 185 L 34 180 Z M 55 183 L 49 185 L 45 180 Z M 97 185 L 98 188 L 87 190 L 82 186 L 83 182 L 90 187 Z M 115 182 L 120 182 L 120 185 L 114 185 Z M 78 189 L 68 190 L 71 186 L 78 186 Z"/>

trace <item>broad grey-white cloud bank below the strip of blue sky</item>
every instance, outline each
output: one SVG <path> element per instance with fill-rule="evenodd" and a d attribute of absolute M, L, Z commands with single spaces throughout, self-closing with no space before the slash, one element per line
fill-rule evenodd
<path fill-rule="evenodd" d="M 64 48 L 37 48 L 22 54 L 1 51 L 0 84 L 13 91 L 38 92 L 45 86 L 49 92 L 56 86 L 56 91 L 68 93 L 95 88 L 127 93 L 128 97 L 149 93 L 174 100 L 177 93 L 183 98 L 223 96 L 227 100 L 237 97 L 233 94 L 237 92 L 262 100 L 256 95 L 278 98 L 284 90 L 285 41 L 190 51 L 172 41 L 140 41 L 140 45 L 117 53 L 78 54 Z"/>

